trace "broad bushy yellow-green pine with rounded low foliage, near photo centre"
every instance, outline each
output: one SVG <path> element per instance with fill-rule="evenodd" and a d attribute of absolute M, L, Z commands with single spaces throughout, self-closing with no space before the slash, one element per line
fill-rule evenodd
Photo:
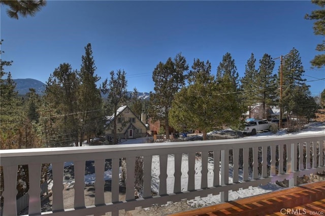
<path fill-rule="evenodd" d="M 169 113 L 170 124 L 178 131 L 198 129 L 207 139 L 207 132 L 218 125 L 217 85 L 211 75 L 211 64 L 194 59 L 189 82 L 176 93 Z"/>

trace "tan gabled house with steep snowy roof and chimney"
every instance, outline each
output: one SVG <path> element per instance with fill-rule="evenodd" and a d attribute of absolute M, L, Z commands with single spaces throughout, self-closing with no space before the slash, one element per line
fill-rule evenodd
<path fill-rule="evenodd" d="M 118 139 L 132 139 L 138 137 L 145 137 L 147 134 L 147 127 L 145 125 L 146 115 L 141 115 L 141 120 L 132 112 L 127 105 L 119 107 L 116 111 L 117 118 L 117 138 Z M 107 117 L 107 124 L 105 126 L 105 134 L 109 139 L 113 137 L 114 115 Z"/>

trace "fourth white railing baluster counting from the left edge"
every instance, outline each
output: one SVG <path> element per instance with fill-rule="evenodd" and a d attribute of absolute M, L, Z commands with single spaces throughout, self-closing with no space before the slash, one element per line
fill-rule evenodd
<path fill-rule="evenodd" d="M 85 161 L 74 161 L 75 170 L 75 208 L 85 207 Z"/>

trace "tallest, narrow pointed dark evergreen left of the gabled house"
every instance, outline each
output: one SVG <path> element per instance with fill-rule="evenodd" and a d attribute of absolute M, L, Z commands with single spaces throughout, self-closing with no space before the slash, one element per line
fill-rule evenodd
<path fill-rule="evenodd" d="M 78 73 L 80 86 L 78 89 L 78 107 L 80 124 L 80 145 L 84 140 L 84 135 L 89 141 L 90 136 L 95 136 L 102 129 L 102 96 L 96 86 L 100 77 L 94 74 L 96 66 L 92 57 L 91 44 L 85 47 L 85 55 L 82 56 L 82 64 Z M 91 98 L 91 99 L 90 99 Z"/>

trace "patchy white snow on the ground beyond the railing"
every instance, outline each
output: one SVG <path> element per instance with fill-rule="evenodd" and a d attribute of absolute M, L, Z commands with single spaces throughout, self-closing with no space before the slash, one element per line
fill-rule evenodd
<path fill-rule="evenodd" d="M 223 132 L 230 132 L 231 129 L 226 129 L 223 131 L 214 131 L 210 132 L 213 133 L 223 133 Z M 312 123 L 306 125 L 304 130 L 294 132 L 294 133 L 287 133 L 285 129 L 279 130 L 277 133 L 273 134 L 272 132 L 261 132 L 257 133 L 253 136 L 245 136 L 243 138 L 245 139 L 256 139 L 261 137 L 270 137 L 270 136 L 294 136 L 295 134 L 319 134 L 322 133 L 325 135 L 325 125 L 321 123 Z M 150 137 L 143 137 L 143 138 L 137 138 L 137 139 L 128 139 L 120 143 L 120 145 L 125 144 L 134 144 L 134 143 L 147 143 L 149 142 Z M 167 178 L 167 193 L 173 193 L 174 189 L 174 156 L 169 155 L 168 156 L 168 164 L 167 164 L 167 170 L 168 170 L 168 178 Z M 72 162 L 66 162 L 64 165 L 69 166 L 72 165 Z M 199 189 L 201 186 L 201 160 L 199 158 L 196 159 L 195 164 L 195 188 Z M 186 191 L 187 190 L 187 171 L 188 171 L 188 163 L 187 163 L 187 154 L 182 155 L 182 164 L 181 164 L 181 170 L 182 170 L 182 176 L 181 176 L 181 190 Z M 208 162 L 208 187 L 212 186 L 213 183 L 213 161 L 209 160 Z M 120 170 L 121 172 L 121 170 Z M 229 182 L 232 183 L 232 165 L 230 165 L 230 176 L 229 176 Z M 158 192 L 158 186 L 159 186 L 159 156 L 153 156 L 152 157 L 152 190 Z M 239 173 L 239 177 L 242 178 L 242 173 Z M 112 172 L 111 170 L 105 171 L 104 174 L 105 180 L 112 178 Z M 74 185 L 74 179 L 70 181 L 64 181 L 66 184 L 68 184 L 68 187 L 73 187 Z M 85 184 L 92 185 L 95 182 L 95 174 L 87 174 L 85 175 Z M 52 184 L 49 185 L 51 188 Z M 241 189 L 239 191 L 231 191 L 229 193 L 229 200 L 236 200 L 244 197 L 254 196 L 258 194 L 268 193 L 274 190 L 278 190 L 281 187 L 275 184 L 268 184 L 265 186 L 260 187 L 250 187 L 248 189 Z M 188 200 L 187 203 L 192 207 L 203 207 L 215 203 L 220 203 L 220 195 L 209 195 L 208 197 L 197 197 L 193 200 Z"/>

